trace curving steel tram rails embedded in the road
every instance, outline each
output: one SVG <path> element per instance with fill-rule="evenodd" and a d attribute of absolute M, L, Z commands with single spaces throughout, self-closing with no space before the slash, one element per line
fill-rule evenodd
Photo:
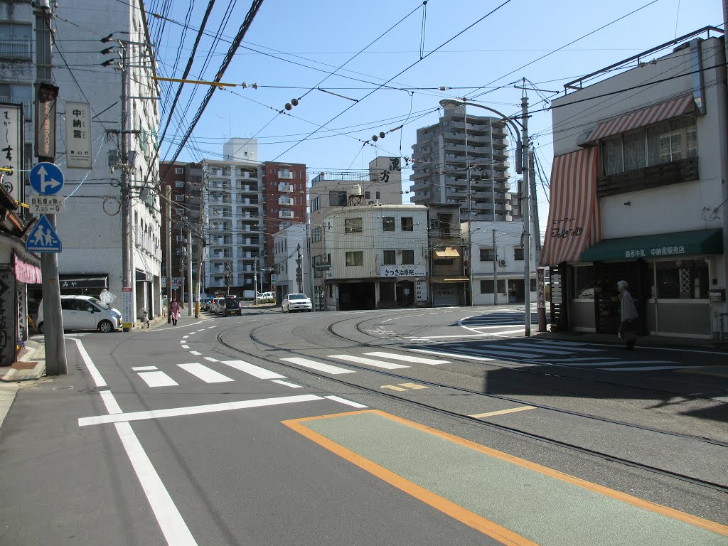
<path fill-rule="evenodd" d="M 350 343 L 354 343 L 354 344 L 357 345 L 357 347 L 359 347 L 359 346 L 362 345 L 362 341 L 355 340 L 355 339 L 351 339 L 351 338 L 347 338 L 347 336 L 342 336 L 341 334 L 336 333 L 335 331 L 333 331 L 333 329 L 335 328 L 336 325 L 338 325 L 340 323 L 344 323 L 344 322 L 350 322 L 351 320 L 352 320 L 351 318 L 347 318 L 347 319 L 344 319 L 344 320 L 336 321 L 335 323 L 331 323 L 331 325 L 328 326 L 327 331 L 332 336 L 336 336 L 337 338 L 343 339 L 344 341 L 348 341 Z M 357 331 L 360 331 L 360 329 L 359 329 L 360 325 L 363 324 L 363 323 L 365 323 L 365 322 L 366 322 L 365 320 L 360 320 L 360 322 L 357 323 Z M 253 330 L 250 331 L 250 333 L 248 334 L 248 336 L 250 337 L 250 340 L 251 341 L 254 341 L 256 343 L 256 345 L 258 345 L 258 346 L 266 347 L 268 349 L 280 349 L 280 347 L 278 347 L 276 344 L 272 344 L 272 343 L 269 343 L 267 341 L 264 341 L 263 339 L 261 339 L 261 336 L 259 336 L 257 334 L 258 331 L 262 331 L 265 328 L 269 328 L 269 327 L 270 327 L 269 324 L 260 325 L 260 326 L 258 326 L 256 328 L 253 328 Z M 671 470 L 667 470 L 665 468 L 656 467 L 656 466 L 653 466 L 651 464 L 645 464 L 645 463 L 642 463 L 642 462 L 636 462 L 636 461 L 633 461 L 633 460 L 630 460 L 630 459 L 625 459 L 624 457 L 621 457 L 621 456 L 615 456 L 615 455 L 612 455 L 612 454 L 605 453 L 604 451 L 598 451 L 596 449 L 591 449 L 591 448 L 587 448 L 587 447 L 584 447 L 584 446 L 577 446 L 576 444 L 569 443 L 568 441 L 558 440 L 558 439 L 555 439 L 555 438 L 549 438 L 548 436 L 545 436 L 545 435 L 540 435 L 540 434 L 537 434 L 537 433 L 534 433 L 534 432 L 529 432 L 529 431 L 526 431 L 526 430 L 519 430 L 518 428 L 509 427 L 509 426 L 504 425 L 504 424 L 498 424 L 498 423 L 495 423 L 495 422 L 483 421 L 483 420 L 480 420 L 480 419 L 476 419 L 474 417 L 471 417 L 471 416 L 469 416 L 467 414 L 459 413 L 457 411 L 451 411 L 451 410 L 448 410 L 446 408 L 438 408 L 438 407 L 436 407 L 434 405 L 430 405 L 430 404 L 428 404 L 426 402 L 422 402 L 420 400 L 414 400 L 414 399 L 411 399 L 411 398 L 408 398 L 408 397 L 403 397 L 403 396 L 397 395 L 395 393 L 383 392 L 380 389 L 374 389 L 374 388 L 371 388 L 371 387 L 366 387 L 366 386 L 363 386 L 361 384 L 357 384 L 357 383 L 355 383 L 353 381 L 347 381 L 346 379 L 341 379 L 339 376 L 325 376 L 325 375 L 323 375 L 320 372 L 307 370 L 305 368 L 298 367 L 297 365 L 293 365 L 291 363 L 286 363 L 285 361 L 280 360 L 280 359 L 274 359 L 272 357 L 261 356 L 258 352 L 253 352 L 253 351 L 250 351 L 250 350 L 240 349 L 238 347 L 235 347 L 232 344 L 229 344 L 226 341 L 226 339 L 225 339 L 226 338 L 226 334 L 229 333 L 229 331 L 232 331 L 234 329 L 237 329 L 237 327 L 227 328 L 226 330 L 219 331 L 217 333 L 217 335 L 216 335 L 216 339 L 217 339 L 218 343 L 221 344 L 223 347 L 226 347 L 226 349 L 231 350 L 231 351 L 235 352 L 238 355 L 245 355 L 246 357 L 255 357 L 258 360 L 264 360 L 264 361 L 267 361 L 267 362 L 272 363 L 274 365 L 281 366 L 283 368 L 288 368 L 290 370 L 295 370 L 298 373 L 304 373 L 305 375 L 315 376 L 317 378 L 324 378 L 327 381 L 333 381 L 334 383 L 341 384 L 341 385 L 344 385 L 344 386 L 347 386 L 347 387 L 352 387 L 352 388 L 355 388 L 355 389 L 360 389 L 360 390 L 362 390 L 364 392 L 368 392 L 368 393 L 373 394 L 373 395 L 379 395 L 379 396 L 382 396 L 382 397 L 389 398 L 391 400 L 397 400 L 400 403 L 405 403 L 405 404 L 408 404 L 408 405 L 414 405 L 414 406 L 417 406 L 419 408 L 426 409 L 427 411 L 433 411 L 433 412 L 438 413 L 438 414 L 450 416 L 452 418 L 459 419 L 459 420 L 461 420 L 463 422 L 468 422 L 470 424 L 478 424 L 481 427 L 486 427 L 486 428 L 490 428 L 490 429 L 493 429 L 493 430 L 499 430 L 499 431 L 502 431 L 502 432 L 507 432 L 507 433 L 510 433 L 510 434 L 513 434 L 513 435 L 518 435 L 518 436 L 520 436 L 522 438 L 529 438 L 531 440 L 538 440 L 540 442 L 547 443 L 547 444 L 550 444 L 552 446 L 558 446 L 558 447 L 561 447 L 561 448 L 566 448 L 566 449 L 569 449 L 571 451 L 578 452 L 580 454 L 585 454 L 585 455 L 589 455 L 589 456 L 595 456 L 595 457 L 598 457 L 600 459 L 604 459 L 604 460 L 609 461 L 609 462 L 623 464 L 623 465 L 628 466 L 628 467 L 633 467 L 633 468 L 637 468 L 637 469 L 640 469 L 640 470 L 645 470 L 647 472 L 652 472 L 652 473 L 655 473 L 657 475 L 662 475 L 662 476 L 666 476 L 666 477 L 669 477 L 669 478 L 675 478 L 677 480 L 681 480 L 683 482 L 690 483 L 692 485 L 704 486 L 704 487 L 711 488 L 711 489 L 716 490 L 716 491 L 721 491 L 723 493 L 728 493 L 728 486 L 726 486 L 726 485 L 724 485 L 722 483 L 715 483 L 715 482 L 711 482 L 710 480 L 704 480 L 702 478 L 696 478 L 694 476 L 689 476 L 689 475 L 681 474 L 680 472 L 673 472 Z M 360 331 L 360 333 L 364 333 L 364 332 L 363 331 Z M 368 334 L 365 334 L 365 335 L 368 335 Z M 310 341 L 308 341 L 308 342 L 310 343 Z M 381 347 L 381 346 L 373 345 L 372 347 Z M 407 352 L 407 349 L 402 349 L 401 347 L 398 347 L 398 348 L 400 350 L 402 350 L 403 352 Z M 296 352 L 296 350 L 290 350 L 289 353 L 291 355 L 300 355 L 302 357 L 310 357 L 311 356 L 307 352 Z M 327 359 L 326 357 L 318 357 L 318 358 L 320 360 L 324 360 L 324 361 L 328 360 L 330 362 L 333 362 L 331 359 Z M 337 365 L 340 365 L 341 363 L 339 363 L 337 361 L 336 364 Z M 370 372 L 370 373 L 374 371 L 374 372 L 379 373 L 379 374 L 381 374 L 383 376 L 391 377 L 392 379 L 402 379 L 402 380 L 405 380 L 405 381 L 413 381 L 415 379 L 415 378 L 412 378 L 412 377 L 409 377 L 409 376 L 405 376 L 405 375 L 403 375 L 401 373 L 396 373 L 396 372 L 391 371 L 391 370 L 380 370 L 380 369 L 373 370 L 372 368 L 367 368 L 365 366 L 356 365 L 355 363 L 346 363 L 346 365 L 347 365 L 348 368 L 352 368 L 352 369 L 357 370 L 357 371 L 366 371 L 366 372 Z M 478 392 L 478 391 L 475 391 L 475 390 L 472 390 L 472 389 L 466 389 L 466 388 L 463 388 L 463 387 L 454 387 L 454 386 L 451 386 L 451 385 L 448 385 L 448 384 L 438 383 L 437 381 L 423 381 L 422 379 L 419 379 L 419 378 L 416 378 L 416 381 L 418 381 L 421 384 L 426 384 L 428 387 L 442 387 L 442 388 L 454 390 L 456 392 L 461 392 L 461 393 L 467 394 L 467 395 L 478 395 L 478 396 L 481 396 L 481 397 L 487 397 L 487 398 L 490 398 L 490 399 L 507 401 L 507 402 L 510 402 L 510 403 L 518 403 L 518 404 L 531 405 L 531 406 L 534 406 L 536 408 L 541 408 L 541 409 L 546 410 L 546 411 L 553 411 L 553 412 L 556 412 L 556 413 L 559 413 L 559 414 L 566 414 L 566 415 L 573 416 L 573 417 L 577 417 L 577 418 L 581 418 L 581 419 L 589 419 L 589 420 L 591 420 L 593 422 L 600 422 L 600 423 L 610 424 L 610 425 L 618 425 L 618 426 L 621 426 L 621 427 L 630 427 L 630 428 L 633 428 L 634 430 L 641 430 L 641 431 L 644 431 L 644 432 L 652 432 L 652 433 L 657 433 L 657 434 L 660 434 L 660 435 L 668 435 L 668 436 L 673 437 L 673 438 L 684 438 L 685 440 L 693 440 L 693 441 L 697 441 L 697 442 L 701 442 L 701 443 L 710 444 L 712 446 L 719 446 L 720 448 L 728 448 L 728 443 L 724 443 L 724 442 L 721 442 L 719 440 L 715 440 L 715 439 L 712 439 L 712 438 L 704 438 L 704 437 L 697 436 L 697 435 L 688 435 L 688 434 L 683 434 L 683 433 L 679 433 L 679 432 L 670 432 L 670 431 L 666 431 L 666 430 L 655 429 L 653 427 L 646 427 L 646 426 L 640 425 L 640 424 L 633 424 L 633 423 L 628 423 L 628 422 L 620 422 L 620 421 L 617 421 L 617 420 L 614 420 L 614 419 L 608 419 L 608 418 L 601 417 L 601 416 L 593 416 L 593 415 L 590 415 L 590 414 L 583 414 L 581 412 L 566 410 L 566 409 L 563 409 L 563 408 L 555 408 L 555 407 L 549 406 L 549 405 L 531 403 L 531 402 L 529 402 L 527 400 L 520 400 L 518 398 L 506 397 L 506 396 L 502 396 L 502 395 L 491 395 L 491 394 L 488 394 L 488 393 Z M 728 454 L 728 451 L 727 451 L 727 454 Z"/>

